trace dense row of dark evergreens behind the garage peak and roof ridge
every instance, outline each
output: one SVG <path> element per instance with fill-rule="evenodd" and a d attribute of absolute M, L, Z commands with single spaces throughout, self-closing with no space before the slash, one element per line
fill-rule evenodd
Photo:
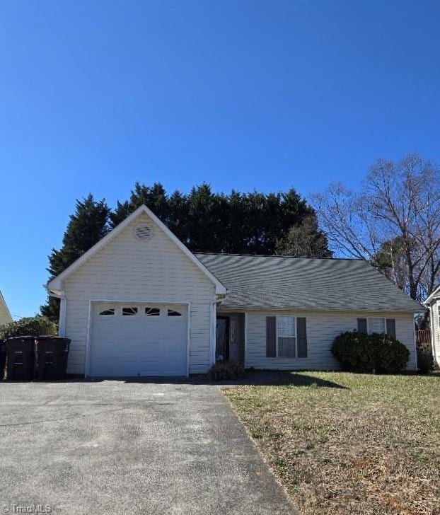
<path fill-rule="evenodd" d="M 294 255 L 331 255 L 315 212 L 293 188 L 284 193 L 245 194 L 233 190 L 224 195 L 212 192 L 204 183 L 187 195 L 175 191 L 168 196 L 160 183 L 136 183 L 129 200 L 118 202 L 110 214 L 112 227 L 141 204 L 149 207 L 192 252 L 275 254 L 283 249 Z M 306 219 L 308 222 L 301 226 Z M 299 236 L 303 248 L 296 243 L 294 249 L 292 238 Z"/>

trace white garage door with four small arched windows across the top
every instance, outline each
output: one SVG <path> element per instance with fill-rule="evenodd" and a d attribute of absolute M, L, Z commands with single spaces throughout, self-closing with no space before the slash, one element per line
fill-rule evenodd
<path fill-rule="evenodd" d="M 90 375 L 186 376 L 187 306 L 94 303 Z"/>

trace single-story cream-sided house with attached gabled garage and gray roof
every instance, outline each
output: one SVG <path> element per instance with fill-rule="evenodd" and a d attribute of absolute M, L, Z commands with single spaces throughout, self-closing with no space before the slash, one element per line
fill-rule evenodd
<path fill-rule="evenodd" d="M 388 332 L 416 368 L 424 308 L 361 260 L 192 254 L 145 206 L 47 284 L 69 374 L 186 376 L 216 359 L 337 369 L 340 332 Z"/>

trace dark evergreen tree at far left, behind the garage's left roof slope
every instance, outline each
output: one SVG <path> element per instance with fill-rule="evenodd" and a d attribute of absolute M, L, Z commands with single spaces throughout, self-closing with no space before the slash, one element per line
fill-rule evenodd
<path fill-rule="evenodd" d="M 96 201 L 88 195 L 83 201 L 76 201 L 75 213 L 70 216 L 64 233 L 62 248 L 49 256 L 50 279 L 57 277 L 69 265 L 83 255 L 109 231 L 110 208 L 105 200 Z M 41 314 L 58 323 L 59 299 L 48 296 L 47 302 L 40 308 Z"/>

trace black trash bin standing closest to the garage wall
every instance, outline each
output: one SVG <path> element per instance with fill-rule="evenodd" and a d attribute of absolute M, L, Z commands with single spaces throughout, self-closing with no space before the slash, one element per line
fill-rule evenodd
<path fill-rule="evenodd" d="M 66 378 L 69 338 L 39 336 L 35 340 L 37 377 L 41 381 L 57 381 Z"/>

